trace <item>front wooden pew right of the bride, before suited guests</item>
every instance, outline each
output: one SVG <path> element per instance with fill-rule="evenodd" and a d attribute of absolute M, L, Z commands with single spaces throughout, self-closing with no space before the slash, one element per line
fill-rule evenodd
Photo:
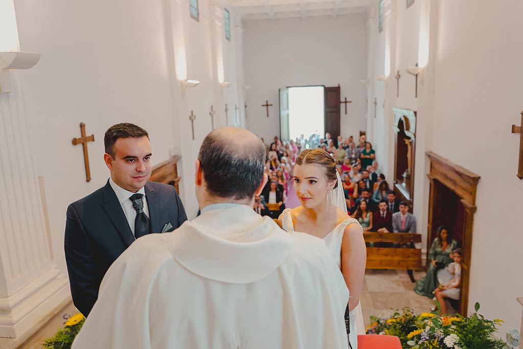
<path fill-rule="evenodd" d="M 365 242 L 422 242 L 421 234 L 363 233 Z M 404 247 L 367 247 L 367 269 L 422 269 L 422 250 Z"/>

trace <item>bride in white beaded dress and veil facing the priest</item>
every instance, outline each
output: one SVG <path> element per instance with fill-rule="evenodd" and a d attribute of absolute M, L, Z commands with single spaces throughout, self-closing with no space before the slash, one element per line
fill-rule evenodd
<path fill-rule="evenodd" d="M 357 335 L 365 334 L 359 297 L 367 250 L 361 226 L 347 216 L 333 157 L 317 148 L 302 151 L 294 166 L 294 190 L 301 206 L 285 209 L 278 220 L 288 232 L 305 232 L 325 240 L 349 289 L 349 343 L 356 349 Z"/>

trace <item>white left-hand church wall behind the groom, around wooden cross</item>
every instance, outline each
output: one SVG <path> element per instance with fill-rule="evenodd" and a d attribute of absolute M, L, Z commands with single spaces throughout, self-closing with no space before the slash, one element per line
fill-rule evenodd
<path fill-rule="evenodd" d="M 223 95 L 219 91 L 209 4 L 200 1 L 199 22 L 189 17 L 188 1 L 177 0 L 22 1 L 16 6 L 21 49 L 42 54 L 37 66 L 21 73 L 22 88 L 36 173 L 46 187 L 55 262 L 62 271 L 66 207 L 105 185 L 109 170 L 103 161 L 103 137 L 115 123 L 133 122 L 149 132 L 153 165 L 181 155 L 180 195 L 189 218 L 194 218 L 194 161 L 211 130 L 210 106 L 230 95 L 234 110 L 237 98 L 232 87 Z M 185 41 L 186 77 L 201 82 L 185 97 L 176 76 L 180 38 Z M 233 42 L 225 51 L 231 50 Z M 234 72 L 234 55 L 224 57 L 224 65 Z M 235 80 L 234 73 L 231 78 Z M 191 110 L 197 115 L 195 140 Z M 95 142 L 88 143 L 93 177 L 88 183 L 82 148 L 71 145 L 71 139 L 79 137 L 80 122 L 86 123 L 87 134 L 95 135 Z M 214 125 L 225 125 L 223 111 L 217 110 Z"/>

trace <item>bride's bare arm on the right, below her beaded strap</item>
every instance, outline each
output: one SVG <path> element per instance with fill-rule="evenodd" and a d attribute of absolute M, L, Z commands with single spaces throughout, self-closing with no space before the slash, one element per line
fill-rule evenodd
<path fill-rule="evenodd" d="M 350 294 L 349 310 L 358 305 L 366 263 L 367 248 L 361 228 L 358 224 L 349 224 L 342 240 L 342 273 Z"/>

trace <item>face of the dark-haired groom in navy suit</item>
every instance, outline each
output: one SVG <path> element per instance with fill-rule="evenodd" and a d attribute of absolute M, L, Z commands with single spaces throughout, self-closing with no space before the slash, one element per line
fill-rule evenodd
<path fill-rule="evenodd" d="M 119 138 L 114 145 L 114 159 L 106 154 L 112 180 L 121 188 L 136 193 L 151 177 L 151 143 L 149 138 Z"/>

